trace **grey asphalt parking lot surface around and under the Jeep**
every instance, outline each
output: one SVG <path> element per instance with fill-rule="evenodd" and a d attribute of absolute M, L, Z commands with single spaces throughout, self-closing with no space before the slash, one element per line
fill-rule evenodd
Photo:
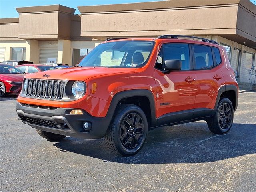
<path fill-rule="evenodd" d="M 256 93 L 240 93 L 228 134 L 203 121 L 158 128 L 127 158 L 104 139 L 46 141 L 18 120 L 16 96 L 0 98 L 0 191 L 252 192 L 255 123 Z"/>

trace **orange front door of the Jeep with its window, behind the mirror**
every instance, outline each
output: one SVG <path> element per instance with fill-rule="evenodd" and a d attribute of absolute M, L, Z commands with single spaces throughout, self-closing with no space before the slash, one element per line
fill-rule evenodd
<path fill-rule="evenodd" d="M 191 46 L 189 44 L 167 43 L 162 45 L 154 72 L 157 89 L 158 117 L 171 112 L 181 111 L 188 114 L 186 115 L 188 119 L 190 119 L 190 115 L 193 115 L 196 74 L 191 70 L 191 54 Z M 164 74 L 162 72 L 164 70 L 163 64 L 165 60 L 169 59 L 181 60 L 182 69 Z"/>

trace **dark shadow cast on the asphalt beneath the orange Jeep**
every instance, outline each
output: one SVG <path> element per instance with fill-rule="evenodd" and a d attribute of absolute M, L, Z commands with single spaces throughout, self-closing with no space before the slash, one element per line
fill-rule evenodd
<path fill-rule="evenodd" d="M 256 125 L 233 124 L 226 135 L 212 134 L 204 122 L 157 128 L 148 132 L 142 150 L 131 157 L 110 152 L 105 140 L 67 137 L 54 146 L 84 156 L 125 164 L 214 162 L 256 153 Z"/>

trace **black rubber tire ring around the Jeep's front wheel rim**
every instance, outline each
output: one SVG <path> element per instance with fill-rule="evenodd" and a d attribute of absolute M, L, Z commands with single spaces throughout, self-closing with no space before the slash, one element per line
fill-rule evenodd
<path fill-rule="evenodd" d="M 136 113 L 136 114 L 140 115 L 142 118 L 143 124 L 144 124 L 143 138 L 142 138 L 140 144 L 138 146 L 136 146 L 134 149 L 125 148 L 120 139 L 121 124 L 122 124 L 124 118 L 130 113 Z M 118 121 L 114 122 L 113 125 L 115 126 L 114 127 L 115 128 L 114 136 L 116 138 L 115 145 L 116 145 L 117 150 L 124 156 L 134 155 L 134 154 L 138 153 L 141 150 L 141 148 L 143 147 L 145 140 L 146 140 L 147 133 L 148 133 L 148 122 L 147 122 L 147 118 L 146 118 L 146 115 L 144 114 L 144 112 L 138 106 L 130 106 L 130 108 L 125 108 L 122 111 L 122 113 L 119 114 Z"/>

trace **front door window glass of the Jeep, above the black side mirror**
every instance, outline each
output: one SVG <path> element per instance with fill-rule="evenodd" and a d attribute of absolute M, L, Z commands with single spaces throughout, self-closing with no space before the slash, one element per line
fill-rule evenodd
<path fill-rule="evenodd" d="M 164 44 L 163 45 L 164 60 L 178 59 L 182 61 L 181 70 L 190 70 L 190 56 L 188 44 Z"/>

